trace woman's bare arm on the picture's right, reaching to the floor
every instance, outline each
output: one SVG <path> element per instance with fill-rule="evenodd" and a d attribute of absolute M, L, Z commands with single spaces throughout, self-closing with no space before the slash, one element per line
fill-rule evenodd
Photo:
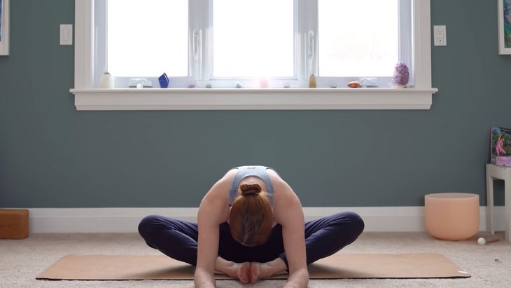
<path fill-rule="evenodd" d="M 284 287 L 307 287 L 309 272 L 305 253 L 305 228 L 302 204 L 293 189 L 282 179 L 272 179 L 275 188 L 274 217 L 282 226 L 289 277 Z"/>

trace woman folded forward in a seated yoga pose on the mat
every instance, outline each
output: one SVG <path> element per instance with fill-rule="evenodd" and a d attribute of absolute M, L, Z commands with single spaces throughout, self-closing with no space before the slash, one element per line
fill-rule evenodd
<path fill-rule="evenodd" d="M 307 264 L 358 238 L 353 212 L 304 222 L 293 189 L 272 168 L 229 170 L 200 203 L 197 224 L 151 215 L 139 224 L 150 247 L 195 268 L 195 287 L 215 287 L 214 272 L 254 283 L 288 271 L 284 287 L 307 287 Z"/>

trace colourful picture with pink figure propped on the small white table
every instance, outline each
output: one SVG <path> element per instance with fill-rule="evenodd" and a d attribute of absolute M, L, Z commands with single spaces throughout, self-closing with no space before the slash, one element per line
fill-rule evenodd
<path fill-rule="evenodd" d="M 491 163 L 511 167 L 511 129 L 491 127 Z"/>

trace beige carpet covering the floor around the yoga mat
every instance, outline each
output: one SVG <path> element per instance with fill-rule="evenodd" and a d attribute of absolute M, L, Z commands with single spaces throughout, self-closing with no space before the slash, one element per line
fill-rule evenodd
<path fill-rule="evenodd" d="M 500 233 L 500 232 L 499 232 Z M 470 277 L 311 279 L 309 288 L 500 288 L 510 287 L 511 243 L 478 245 L 477 238 L 437 240 L 427 232 L 364 232 L 339 254 L 416 254 L 446 256 Z M 502 233 L 500 233 L 502 235 Z M 36 280 L 66 255 L 155 255 L 137 233 L 31 234 L 23 240 L 0 240 L 0 287 L 9 288 L 194 288 L 193 280 Z M 286 280 L 241 284 L 218 280 L 218 288 L 282 288 Z"/>

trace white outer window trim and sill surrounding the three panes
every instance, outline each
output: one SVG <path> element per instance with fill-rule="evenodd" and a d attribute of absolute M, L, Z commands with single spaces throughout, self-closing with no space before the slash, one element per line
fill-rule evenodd
<path fill-rule="evenodd" d="M 414 6 L 412 88 L 94 88 L 94 0 L 75 0 L 77 110 L 430 109 L 430 0 Z"/>

